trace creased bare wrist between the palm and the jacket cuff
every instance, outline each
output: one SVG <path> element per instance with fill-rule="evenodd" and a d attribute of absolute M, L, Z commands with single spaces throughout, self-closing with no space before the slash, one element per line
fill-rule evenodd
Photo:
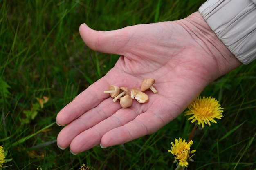
<path fill-rule="evenodd" d="M 234 70 L 242 64 L 211 30 L 199 12 L 189 15 L 184 19 L 183 24 L 187 31 L 197 38 L 198 43 L 204 46 L 205 51 L 215 60 L 217 77 Z"/>

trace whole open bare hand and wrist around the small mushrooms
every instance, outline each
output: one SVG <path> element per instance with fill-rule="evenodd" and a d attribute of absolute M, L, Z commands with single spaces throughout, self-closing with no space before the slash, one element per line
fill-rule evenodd
<path fill-rule="evenodd" d="M 123 144 L 152 134 L 175 119 L 214 79 L 241 63 L 196 12 L 174 22 L 129 26 L 115 31 L 79 28 L 85 44 L 121 57 L 104 77 L 89 86 L 57 115 L 64 126 L 58 146 L 74 154 L 101 144 Z M 140 88 L 156 80 L 149 101 L 121 108 L 104 90 L 110 85 Z"/>

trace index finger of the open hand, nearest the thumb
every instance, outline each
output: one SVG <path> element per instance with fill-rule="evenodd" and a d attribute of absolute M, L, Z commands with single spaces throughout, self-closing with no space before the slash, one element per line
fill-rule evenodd
<path fill-rule="evenodd" d="M 109 97 L 109 94 L 103 93 L 104 90 L 108 90 L 109 86 L 105 78 L 99 79 L 58 113 L 56 123 L 64 126 L 88 110 L 96 107 L 100 102 Z"/>

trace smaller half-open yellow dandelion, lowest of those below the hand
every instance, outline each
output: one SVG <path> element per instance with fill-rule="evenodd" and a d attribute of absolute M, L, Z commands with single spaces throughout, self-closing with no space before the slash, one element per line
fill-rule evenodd
<path fill-rule="evenodd" d="M 179 161 L 179 165 L 180 166 L 185 166 L 188 167 L 189 163 L 189 159 L 191 159 L 191 157 L 193 157 L 193 154 L 195 153 L 196 150 L 192 150 L 190 151 L 190 147 L 193 144 L 193 141 L 189 141 L 189 143 L 187 143 L 184 140 L 182 140 L 181 138 L 179 139 L 175 139 L 175 142 L 171 142 L 171 150 L 168 150 L 168 152 L 171 152 L 171 154 L 174 155 L 174 158 L 177 159 Z"/>

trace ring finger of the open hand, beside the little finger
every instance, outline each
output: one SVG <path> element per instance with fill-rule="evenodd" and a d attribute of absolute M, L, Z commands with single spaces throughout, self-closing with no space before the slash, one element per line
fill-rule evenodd
<path fill-rule="evenodd" d="M 138 113 L 131 108 L 118 110 L 111 117 L 77 135 L 70 143 L 70 151 L 76 154 L 99 145 L 101 137 L 106 132 L 132 121 L 137 115 Z"/>

